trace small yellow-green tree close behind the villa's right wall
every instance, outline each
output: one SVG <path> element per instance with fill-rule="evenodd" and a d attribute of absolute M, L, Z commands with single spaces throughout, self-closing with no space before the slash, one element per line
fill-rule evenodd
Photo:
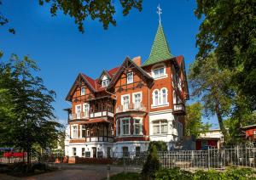
<path fill-rule="evenodd" d="M 200 133 L 207 132 L 211 124 L 204 124 L 201 120 L 203 107 L 201 103 L 194 103 L 186 106 L 186 131 L 187 136 L 194 135 L 199 137 Z"/>

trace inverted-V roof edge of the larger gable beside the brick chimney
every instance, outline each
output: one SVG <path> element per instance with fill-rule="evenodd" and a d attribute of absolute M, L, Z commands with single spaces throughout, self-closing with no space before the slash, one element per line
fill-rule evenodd
<path fill-rule="evenodd" d="M 119 76 L 125 70 L 125 64 L 127 62 L 129 62 L 129 63 L 131 63 L 131 65 L 135 66 L 137 68 L 137 70 L 139 70 L 143 74 L 143 76 L 146 76 L 149 80 L 154 82 L 154 78 L 152 76 L 148 75 L 148 73 L 145 70 L 143 70 L 140 66 L 138 66 L 136 63 L 134 63 L 133 60 L 131 60 L 129 57 L 126 57 L 123 64 L 119 67 L 119 70 L 113 76 L 111 82 L 108 85 L 108 88 L 112 87 L 114 85 L 114 83 L 117 82 Z"/>

